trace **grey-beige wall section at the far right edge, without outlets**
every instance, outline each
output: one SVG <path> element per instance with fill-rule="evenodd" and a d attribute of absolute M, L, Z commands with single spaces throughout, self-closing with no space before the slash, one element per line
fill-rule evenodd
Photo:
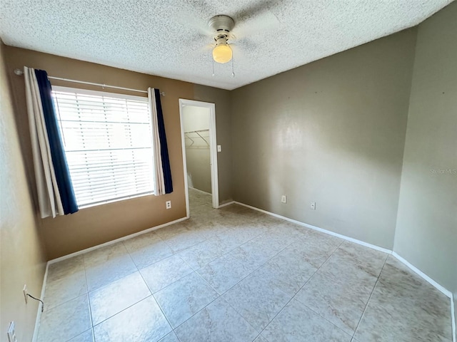
<path fill-rule="evenodd" d="M 457 295 L 457 3 L 418 27 L 394 250 Z"/>

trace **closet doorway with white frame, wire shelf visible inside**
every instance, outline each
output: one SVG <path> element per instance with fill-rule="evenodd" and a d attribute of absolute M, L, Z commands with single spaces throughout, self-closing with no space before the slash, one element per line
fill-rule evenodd
<path fill-rule="evenodd" d="M 219 207 L 217 177 L 216 106 L 195 100 L 179 99 L 183 150 L 186 211 L 191 192 L 211 194 L 213 208 Z"/>

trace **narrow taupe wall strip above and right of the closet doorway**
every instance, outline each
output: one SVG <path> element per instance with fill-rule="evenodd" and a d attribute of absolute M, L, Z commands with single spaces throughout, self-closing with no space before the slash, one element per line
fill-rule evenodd
<path fill-rule="evenodd" d="M 231 92 L 229 90 L 194 85 L 194 100 L 216 105 L 216 140 L 222 152 L 217 153 L 219 204 L 231 202 L 232 147 L 231 147 Z"/>

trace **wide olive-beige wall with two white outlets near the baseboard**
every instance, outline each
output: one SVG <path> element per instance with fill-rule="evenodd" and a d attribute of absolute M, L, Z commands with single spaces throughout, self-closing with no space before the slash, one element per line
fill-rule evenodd
<path fill-rule="evenodd" d="M 233 199 L 391 249 L 415 40 L 409 29 L 233 90 Z"/>

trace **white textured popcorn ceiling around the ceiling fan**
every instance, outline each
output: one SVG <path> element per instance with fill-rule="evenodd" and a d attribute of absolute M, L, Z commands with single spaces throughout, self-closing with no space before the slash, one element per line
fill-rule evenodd
<path fill-rule="evenodd" d="M 419 24 L 452 0 L 1 0 L 6 45 L 234 89 Z M 255 12 L 253 14 L 253 11 Z M 232 16 L 212 74 L 207 21 Z"/>

